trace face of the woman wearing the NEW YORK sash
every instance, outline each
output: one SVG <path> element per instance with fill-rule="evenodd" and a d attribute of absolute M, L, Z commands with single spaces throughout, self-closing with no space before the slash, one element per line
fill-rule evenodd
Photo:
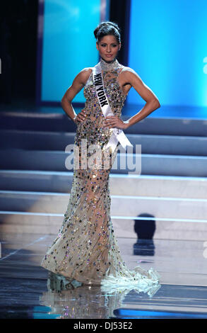
<path fill-rule="evenodd" d="M 99 51 L 100 57 L 107 62 L 111 62 L 117 57 L 120 50 L 121 43 L 117 42 L 114 35 L 107 35 L 102 37 L 99 43 L 96 43 L 96 48 Z"/>

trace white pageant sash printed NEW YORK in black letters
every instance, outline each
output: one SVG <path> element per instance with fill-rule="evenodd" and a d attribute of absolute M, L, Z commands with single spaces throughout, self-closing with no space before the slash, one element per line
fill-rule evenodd
<path fill-rule="evenodd" d="M 93 67 L 93 82 L 95 84 L 95 91 L 97 94 L 97 99 L 100 103 L 100 108 L 103 115 L 107 117 L 108 115 L 114 115 L 114 113 L 112 113 L 110 103 L 105 93 L 101 70 L 102 69 L 100 63 L 96 64 L 95 67 Z M 131 145 L 131 142 L 124 134 L 123 130 L 119 128 L 111 128 L 110 130 L 112 130 L 112 135 L 110 137 L 110 141 L 107 143 L 107 146 L 105 148 L 112 147 L 112 152 L 114 152 L 118 142 L 120 142 L 124 149 L 126 149 L 126 146 L 133 147 L 133 145 Z"/>

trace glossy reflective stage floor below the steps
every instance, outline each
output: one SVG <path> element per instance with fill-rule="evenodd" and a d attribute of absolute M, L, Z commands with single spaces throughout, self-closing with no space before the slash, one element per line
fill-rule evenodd
<path fill-rule="evenodd" d="M 136 239 L 118 238 L 129 268 L 140 264 L 160 273 L 160 286 L 150 296 L 97 286 L 52 292 L 48 271 L 39 265 L 53 239 L 0 235 L 0 318 L 207 318 L 205 243 L 156 239 L 151 251 L 140 242 L 134 254 Z"/>

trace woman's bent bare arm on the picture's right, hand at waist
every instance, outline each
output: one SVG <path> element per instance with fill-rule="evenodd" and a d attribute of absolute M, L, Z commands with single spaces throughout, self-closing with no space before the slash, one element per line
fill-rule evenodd
<path fill-rule="evenodd" d="M 138 123 L 138 121 L 146 118 L 157 108 L 160 108 L 160 102 L 157 96 L 155 96 L 155 94 L 153 93 L 153 91 L 148 86 L 146 86 L 146 84 L 143 83 L 141 77 L 136 74 L 134 69 L 125 67 L 125 69 L 122 70 L 122 82 L 124 86 L 129 85 L 129 89 L 131 88 L 131 86 L 133 86 L 134 89 L 138 92 L 138 94 L 144 99 L 144 101 L 146 101 L 146 105 L 143 106 L 141 111 L 139 111 L 138 113 L 136 113 L 136 115 L 133 115 L 133 117 L 129 118 L 126 121 L 122 121 L 115 116 L 108 116 L 105 119 L 107 125 L 109 125 L 110 128 L 116 127 L 124 130 L 126 128 L 129 128 L 131 125 Z"/>

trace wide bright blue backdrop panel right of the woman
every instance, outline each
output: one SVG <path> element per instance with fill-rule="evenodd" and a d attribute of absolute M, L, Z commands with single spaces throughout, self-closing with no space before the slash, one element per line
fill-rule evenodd
<path fill-rule="evenodd" d="M 206 15 L 206 0 L 131 0 L 129 67 L 162 106 L 207 106 Z"/>

